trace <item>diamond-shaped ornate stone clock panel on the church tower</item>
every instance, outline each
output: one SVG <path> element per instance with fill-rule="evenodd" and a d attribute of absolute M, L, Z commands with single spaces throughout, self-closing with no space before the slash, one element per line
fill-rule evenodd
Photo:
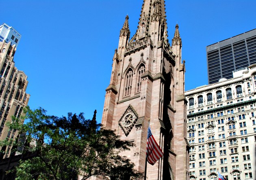
<path fill-rule="evenodd" d="M 126 111 L 124 112 L 123 116 L 119 120 L 119 125 L 123 129 L 126 136 L 128 136 L 128 134 L 132 130 L 132 127 L 135 125 L 137 119 L 137 113 L 132 108 L 132 106 L 129 105 Z"/>

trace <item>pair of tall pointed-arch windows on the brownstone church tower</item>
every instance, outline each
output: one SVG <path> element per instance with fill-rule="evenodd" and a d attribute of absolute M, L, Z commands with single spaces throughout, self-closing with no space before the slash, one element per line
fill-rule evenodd
<path fill-rule="evenodd" d="M 136 79 L 136 90 L 135 93 L 139 93 L 141 91 L 141 75 L 145 72 L 145 65 L 141 64 L 137 71 L 137 79 Z M 132 93 L 132 79 L 133 79 L 133 70 L 130 68 L 125 76 L 125 85 L 124 85 L 124 97 L 131 95 Z"/>

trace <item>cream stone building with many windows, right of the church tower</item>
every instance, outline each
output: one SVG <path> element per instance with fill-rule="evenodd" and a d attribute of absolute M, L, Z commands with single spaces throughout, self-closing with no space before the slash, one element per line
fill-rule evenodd
<path fill-rule="evenodd" d="M 187 97 L 190 180 L 256 179 L 256 64 Z"/>

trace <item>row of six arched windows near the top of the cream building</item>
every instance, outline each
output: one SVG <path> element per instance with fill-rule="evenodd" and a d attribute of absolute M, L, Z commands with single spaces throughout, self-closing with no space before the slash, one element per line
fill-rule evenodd
<path fill-rule="evenodd" d="M 207 104 L 213 104 L 213 94 L 208 93 L 206 94 L 206 96 L 207 96 Z M 236 97 L 241 97 L 241 96 L 243 96 L 242 86 L 238 85 L 236 86 Z M 221 90 L 216 92 L 216 97 L 217 97 L 217 102 L 222 101 Z M 227 100 L 232 99 L 232 89 L 230 87 L 226 89 L 226 97 L 227 97 Z M 204 106 L 203 95 L 199 95 L 197 97 L 197 102 L 198 102 L 198 107 Z M 194 98 L 193 97 L 189 98 L 189 109 L 194 108 L 194 104 L 195 104 Z"/>

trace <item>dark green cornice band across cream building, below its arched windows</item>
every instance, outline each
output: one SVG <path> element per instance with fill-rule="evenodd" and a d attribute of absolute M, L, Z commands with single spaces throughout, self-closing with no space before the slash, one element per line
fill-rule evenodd
<path fill-rule="evenodd" d="M 188 114 L 187 118 L 191 118 L 191 117 L 194 117 L 194 116 L 201 116 L 201 115 L 204 115 L 204 114 L 210 114 L 210 113 L 213 113 L 213 112 L 218 112 L 218 111 L 226 110 L 226 109 L 230 109 L 230 108 L 236 108 L 236 107 L 239 107 L 239 106 L 245 106 L 247 104 L 252 104 L 252 103 L 255 103 L 255 102 L 256 102 L 256 99 L 249 100 L 249 101 L 243 101 L 243 102 L 239 102 L 239 103 L 236 103 L 236 104 L 230 104 L 230 105 L 222 106 L 222 107 L 219 107 L 219 108 L 214 108 L 214 109 L 210 109 L 210 110 L 206 110 L 206 111 L 202 111 L 202 112 Z"/>

